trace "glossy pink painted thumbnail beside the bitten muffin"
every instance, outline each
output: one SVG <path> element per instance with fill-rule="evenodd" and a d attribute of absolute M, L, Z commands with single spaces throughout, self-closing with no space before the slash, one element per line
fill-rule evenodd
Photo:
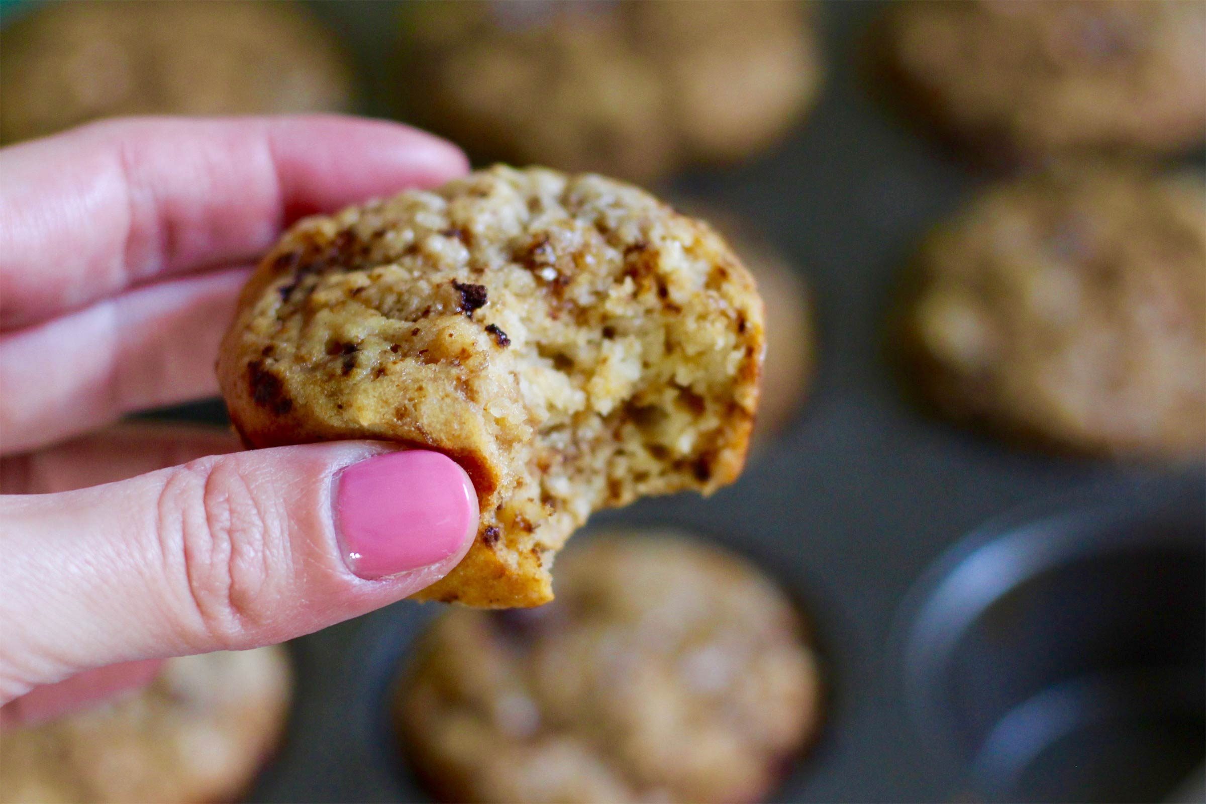
<path fill-rule="evenodd" d="M 478 527 L 478 495 L 447 456 L 390 452 L 344 469 L 335 521 L 349 569 L 386 577 L 459 551 Z"/>

